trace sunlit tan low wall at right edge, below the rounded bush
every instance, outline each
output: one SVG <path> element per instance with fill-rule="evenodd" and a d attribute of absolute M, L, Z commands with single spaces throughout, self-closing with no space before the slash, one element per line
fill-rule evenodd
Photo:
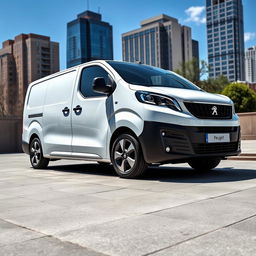
<path fill-rule="evenodd" d="M 256 112 L 239 113 L 238 115 L 241 122 L 242 140 L 256 140 Z"/>

